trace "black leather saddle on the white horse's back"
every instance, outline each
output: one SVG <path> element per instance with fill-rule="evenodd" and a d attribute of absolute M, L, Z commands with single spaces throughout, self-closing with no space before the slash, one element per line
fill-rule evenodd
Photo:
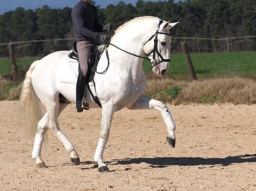
<path fill-rule="evenodd" d="M 98 50 L 98 46 L 99 45 L 94 46 L 93 52 L 89 53 L 88 58 L 87 58 L 88 73 L 90 73 L 89 82 L 93 81 L 93 78 L 94 78 L 94 75 L 95 75 L 95 72 L 96 72 L 96 69 L 97 69 L 97 65 L 98 65 L 98 62 L 100 60 L 101 52 Z M 77 51 L 77 42 L 73 43 L 72 52 L 70 53 L 69 57 L 72 58 L 72 59 L 78 60 L 78 62 L 79 62 L 78 51 Z M 78 65 L 78 66 L 79 66 L 79 69 L 78 69 L 78 71 L 79 71 L 80 70 L 80 65 Z M 93 81 L 93 84 L 94 84 L 94 88 L 95 88 L 94 81 Z M 97 103 L 101 107 L 101 103 L 99 101 L 98 96 L 93 95 L 93 93 L 90 89 L 90 86 L 88 84 L 87 84 L 87 87 L 88 87 L 88 90 L 89 90 L 90 94 L 92 95 L 93 100 L 95 101 L 95 103 Z M 86 97 L 86 88 L 85 88 L 85 97 Z"/>

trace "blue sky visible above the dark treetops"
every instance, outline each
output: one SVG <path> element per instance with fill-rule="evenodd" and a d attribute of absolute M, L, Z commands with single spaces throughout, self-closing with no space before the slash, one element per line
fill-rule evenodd
<path fill-rule="evenodd" d="M 41 8 L 43 5 L 48 5 L 50 8 L 62 9 L 64 7 L 73 8 L 74 5 L 79 0 L 0 0 L 0 15 L 4 14 L 4 12 L 15 10 L 17 7 L 23 7 L 25 10 Z M 105 8 L 109 4 L 116 5 L 121 0 L 94 0 L 97 5 L 100 5 L 101 8 Z M 136 4 L 137 0 L 122 0 L 126 4 L 131 3 L 133 5 Z M 149 0 L 143 0 L 144 2 Z M 158 1 L 158 0 L 150 0 L 150 1 Z M 175 0 L 177 2 L 178 0 Z"/>

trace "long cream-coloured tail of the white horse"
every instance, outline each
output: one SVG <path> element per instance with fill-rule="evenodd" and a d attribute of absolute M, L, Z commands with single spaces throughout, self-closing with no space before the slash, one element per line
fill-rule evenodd
<path fill-rule="evenodd" d="M 26 133 L 35 135 L 37 123 L 43 117 L 40 100 L 37 97 L 32 86 L 31 75 L 39 60 L 32 63 L 26 73 L 23 87 L 20 94 L 19 106 L 22 119 L 24 120 Z"/>

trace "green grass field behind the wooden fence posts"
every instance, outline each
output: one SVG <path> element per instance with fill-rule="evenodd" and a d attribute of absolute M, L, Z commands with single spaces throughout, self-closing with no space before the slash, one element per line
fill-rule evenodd
<path fill-rule="evenodd" d="M 190 54 L 198 79 L 214 77 L 256 77 L 256 52 L 193 53 Z M 33 61 L 40 58 L 16 59 L 18 71 L 27 71 Z M 153 74 L 149 61 L 144 60 L 146 75 Z M 0 75 L 11 74 L 10 60 L 0 59 Z M 171 54 L 171 65 L 167 73 L 173 79 L 190 78 L 184 54 Z"/>

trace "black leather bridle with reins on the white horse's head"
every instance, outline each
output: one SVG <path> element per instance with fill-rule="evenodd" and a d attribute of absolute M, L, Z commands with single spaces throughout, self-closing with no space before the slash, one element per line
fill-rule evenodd
<path fill-rule="evenodd" d="M 158 34 L 163 34 L 163 35 L 168 35 L 168 36 L 170 36 L 170 34 L 168 34 L 168 33 L 159 32 L 159 28 L 160 28 L 160 25 L 161 25 L 162 23 L 163 23 L 163 20 L 160 20 L 160 21 L 159 21 L 159 24 L 158 24 L 158 26 L 157 26 L 157 29 L 156 29 L 155 34 L 153 34 L 153 35 L 144 43 L 144 45 L 143 45 L 143 46 L 145 46 L 146 43 L 148 43 L 149 41 L 151 41 L 151 40 L 155 37 L 155 38 L 154 38 L 154 49 L 153 49 L 149 54 L 146 54 L 147 56 L 149 56 L 150 54 L 153 53 L 153 64 L 152 64 L 152 67 L 157 66 L 158 64 L 160 64 L 160 63 L 162 63 L 162 62 L 170 62 L 170 61 L 171 61 L 170 59 L 164 59 L 164 58 L 162 57 L 162 55 L 158 52 L 158 49 L 157 49 L 157 44 L 158 44 L 157 35 L 158 35 Z M 133 55 L 133 56 L 135 56 L 135 57 L 139 57 L 139 58 L 143 58 L 143 59 L 146 59 L 146 60 L 151 61 L 151 59 L 149 59 L 149 58 L 142 57 L 142 56 L 139 56 L 139 55 L 136 55 L 136 54 L 127 52 L 127 51 L 125 51 L 125 50 L 119 48 L 118 46 L 116 46 L 116 45 L 114 45 L 114 44 L 109 43 L 109 45 L 111 45 L 111 46 L 113 46 L 113 47 L 115 47 L 115 48 L 117 48 L 117 49 L 119 49 L 119 50 L 121 50 L 121 51 L 123 51 L 123 52 L 125 52 L 125 53 L 127 53 L 127 54 L 130 54 L 130 55 Z M 156 59 L 155 59 L 155 55 L 156 55 L 156 54 L 161 58 L 161 61 L 160 61 L 160 62 L 156 62 Z"/>

